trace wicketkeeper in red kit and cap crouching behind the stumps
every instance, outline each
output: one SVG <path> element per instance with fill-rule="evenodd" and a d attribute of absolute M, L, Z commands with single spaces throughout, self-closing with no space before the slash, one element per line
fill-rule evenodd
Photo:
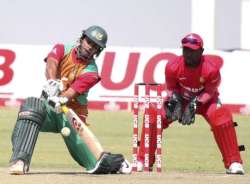
<path fill-rule="evenodd" d="M 227 174 L 244 174 L 235 123 L 231 112 L 221 105 L 218 87 L 221 83 L 220 69 L 223 60 L 219 56 L 204 55 L 200 35 L 190 33 L 182 41 L 182 55 L 169 61 L 165 68 L 167 97 L 162 108 L 162 127 L 172 122 L 182 125 L 195 122 L 195 114 L 202 115 L 211 127 L 215 142 L 222 155 Z M 149 166 L 155 162 L 156 109 L 150 109 L 150 158 Z M 137 170 L 143 170 L 144 134 L 140 143 Z"/>

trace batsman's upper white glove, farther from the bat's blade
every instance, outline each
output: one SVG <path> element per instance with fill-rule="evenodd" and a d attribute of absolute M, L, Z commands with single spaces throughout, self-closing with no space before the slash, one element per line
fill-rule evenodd
<path fill-rule="evenodd" d="M 42 94 L 45 98 L 49 98 L 52 96 L 58 96 L 62 90 L 63 83 L 61 80 L 49 79 L 43 86 Z"/>

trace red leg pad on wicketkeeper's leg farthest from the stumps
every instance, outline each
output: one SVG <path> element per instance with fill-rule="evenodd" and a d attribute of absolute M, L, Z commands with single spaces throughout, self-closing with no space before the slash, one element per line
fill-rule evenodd
<path fill-rule="evenodd" d="M 242 163 L 231 112 L 221 107 L 212 112 L 209 119 L 225 167 L 228 168 L 232 162 Z"/>

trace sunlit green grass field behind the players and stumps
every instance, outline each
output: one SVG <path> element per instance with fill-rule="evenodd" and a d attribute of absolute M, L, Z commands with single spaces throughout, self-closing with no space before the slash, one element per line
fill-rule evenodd
<path fill-rule="evenodd" d="M 11 155 L 11 132 L 18 109 L 0 108 L 0 167 L 6 168 Z M 238 122 L 238 140 L 245 144 L 241 152 L 246 175 L 250 172 L 250 117 L 234 116 Z M 107 151 L 123 153 L 131 160 L 132 116 L 129 112 L 90 111 L 91 129 Z M 224 174 L 218 148 L 207 123 L 199 116 L 192 126 L 173 123 L 163 134 L 164 173 Z M 32 159 L 32 169 L 69 169 L 79 166 L 70 157 L 60 134 L 41 133 Z M 1 183 L 1 182 L 0 182 Z"/>

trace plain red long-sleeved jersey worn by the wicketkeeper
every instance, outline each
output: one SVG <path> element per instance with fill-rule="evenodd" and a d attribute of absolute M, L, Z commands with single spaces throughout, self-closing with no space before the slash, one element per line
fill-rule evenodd
<path fill-rule="evenodd" d="M 168 94 L 177 92 L 186 100 L 198 97 L 201 103 L 218 96 L 221 81 L 220 68 L 223 60 L 215 55 L 203 55 L 196 68 L 185 65 L 183 56 L 176 57 L 166 65 L 165 80 Z"/>

